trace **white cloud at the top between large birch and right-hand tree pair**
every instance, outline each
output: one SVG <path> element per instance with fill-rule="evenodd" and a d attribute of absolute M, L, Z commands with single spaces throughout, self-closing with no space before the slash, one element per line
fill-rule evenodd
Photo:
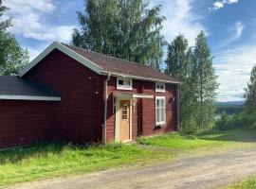
<path fill-rule="evenodd" d="M 163 35 L 168 42 L 178 34 L 183 34 L 194 45 L 194 39 L 201 30 L 206 28 L 200 24 L 201 17 L 193 12 L 194 0 L 156 0 L 154 5 L 162 6 L 162 15 L 166 17 L 163 25 Z"/>

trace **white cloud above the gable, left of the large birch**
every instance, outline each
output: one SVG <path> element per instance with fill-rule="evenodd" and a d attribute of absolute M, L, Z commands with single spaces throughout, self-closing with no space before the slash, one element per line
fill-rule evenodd
<path fill-rule="evenodd" d="M 4 4 L 9 8 L 7 16 L 13 17 L 10 32 L 42 42 L 71 40 L 75 26 L 60 26 L 45 21 L 46 15 L 52 15 L 57 9 L 53 0 L 8 0 Z"/>

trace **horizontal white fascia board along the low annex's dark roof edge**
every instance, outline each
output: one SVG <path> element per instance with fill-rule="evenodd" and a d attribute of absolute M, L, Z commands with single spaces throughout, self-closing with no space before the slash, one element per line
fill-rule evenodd
<path fill-rule="evenodd" d="M 3 100 L 38 100 L 38 101 L 61 101 L 61 97 L 57 96 L 36 96 L 36 95 L 7 95 L 1 94 L 0 99 Z"/>

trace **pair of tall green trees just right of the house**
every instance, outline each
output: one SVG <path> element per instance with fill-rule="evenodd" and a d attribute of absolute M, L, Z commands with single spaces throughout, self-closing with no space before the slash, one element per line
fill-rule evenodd
<path fill-rule="evenodd" d="M 182 79 L 180 129 L 190 132 L 213 126 L 218 84 L 205 34 L 198 35 L 194 49 L 182 35 L 177 36 L 168 46 L 166 64 L 167 74 Z"/>

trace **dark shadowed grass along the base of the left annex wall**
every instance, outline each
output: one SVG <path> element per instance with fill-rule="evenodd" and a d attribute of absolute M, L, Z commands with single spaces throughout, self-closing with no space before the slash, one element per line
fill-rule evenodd
<path fill-rule="evenodd" d="M 64 142 L 45 142 L 32 146 L 10 148 L 0 151 L 0 164 L 18 163 L 32 157 L 46 156 L 48 153 L 60 154 L 65 146 Z"/>

